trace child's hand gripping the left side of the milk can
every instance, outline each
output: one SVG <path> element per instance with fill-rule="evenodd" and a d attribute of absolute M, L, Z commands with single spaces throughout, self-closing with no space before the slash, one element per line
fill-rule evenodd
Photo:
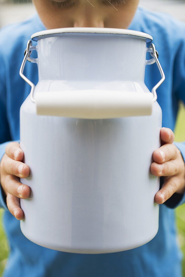
<path fill-rule="evenodd" d="M 29 166 L 21 162 L 23 158 L 24 153 L 19 143 L 10 142 L 0 163 L 0 183 L 6 195 L 6 204 L 18 220 L 24 218 L 19 198 L 27 199 L 30 196 L 29 186 L 19 182 L 19 178 L 26 178 L 30 174 Z"/>

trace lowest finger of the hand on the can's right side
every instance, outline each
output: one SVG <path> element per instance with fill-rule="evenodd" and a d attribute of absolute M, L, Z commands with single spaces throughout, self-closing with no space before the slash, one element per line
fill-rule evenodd
<path fill-rule="evenodd" d="M 181 186 L 183 183 L 178 177 L 171 177 L 164 182 L 162 188 L 155 195 L 155 202 L 157 204 L 163 204 L 168 200 Z"/>

